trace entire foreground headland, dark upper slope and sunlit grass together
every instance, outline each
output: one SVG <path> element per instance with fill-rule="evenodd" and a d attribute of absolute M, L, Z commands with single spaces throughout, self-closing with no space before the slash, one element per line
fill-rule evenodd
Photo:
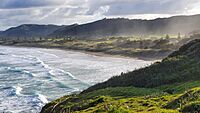
<path fill-rule="evenodd" d="M 200 40 L 182 46 L 162 62 L 50 102 L 41 112 L 199 113 Z"/>

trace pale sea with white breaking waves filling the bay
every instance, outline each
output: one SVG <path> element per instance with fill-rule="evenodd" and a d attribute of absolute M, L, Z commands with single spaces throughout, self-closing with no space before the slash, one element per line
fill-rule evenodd
<path fill-rule="evenodd" d="M 152 63 L 58 49 L 0 46 L 0 113 L 38 113 L 56 98 Z"/>

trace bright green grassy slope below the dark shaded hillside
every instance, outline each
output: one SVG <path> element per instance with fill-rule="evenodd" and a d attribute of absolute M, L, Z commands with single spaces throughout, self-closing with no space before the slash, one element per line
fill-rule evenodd
<path fill-rule="evenodd" d="M 184 85 L 191 89 L 182 90 Z M 64 96 L 47 104 L 42 113 L 179 113 L 199 106 L 199 82 L 174 84 L 159 88 L 116 87 L 100 89 L 86 94 Z M 198 87 L 196 87 L 196 85 Z M 172 86 L 177 93 L 168 94 Z M 196 87 L 196 88 L 195 88 Z M 45 111 L 46 110 L 46 111 Z"/>

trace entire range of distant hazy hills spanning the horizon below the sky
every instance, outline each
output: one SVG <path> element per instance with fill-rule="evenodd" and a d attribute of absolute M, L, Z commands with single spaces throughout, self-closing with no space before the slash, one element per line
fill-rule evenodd
<path fill-rule="evenodd" d="M 0 32 L 1 37 L 72 37 L 99 38 L 106 36 L 188 34 L 200 30 L 200 15 L 174 16 L 154 20 L 102 19 L 69 26 L 21 25 Z"/>

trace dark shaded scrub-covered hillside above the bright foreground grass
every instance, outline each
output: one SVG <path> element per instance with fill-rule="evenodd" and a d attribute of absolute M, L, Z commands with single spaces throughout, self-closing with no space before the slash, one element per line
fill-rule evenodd
<path fill-rule="evenodd" d="M 104 83 L 94 85 L 84 92 L 106 87 L 145 87 L 200 80 L 200 40 L 193 40 L 173 52 L 162 62 L 133 72 L 115 76 Z"/>

